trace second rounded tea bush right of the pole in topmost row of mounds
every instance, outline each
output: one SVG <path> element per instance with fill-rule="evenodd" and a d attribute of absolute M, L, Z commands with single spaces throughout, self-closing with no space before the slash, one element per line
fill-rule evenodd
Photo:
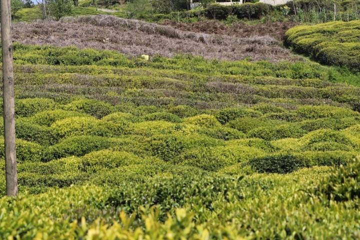
<path fill-rule="evenodd" d="M 109 103 L 94 99 L 78 99 L 63 106 L 64 110 L 85 112 L 96 118 L 101 118 L 115 111 Z"/>

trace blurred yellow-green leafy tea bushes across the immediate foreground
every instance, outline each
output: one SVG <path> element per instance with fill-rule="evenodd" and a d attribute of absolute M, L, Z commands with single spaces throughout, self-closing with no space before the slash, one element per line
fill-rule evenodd
<path fill-rule="evenodd" d="M 20 194 L 0 200 L 0 231 L 3 237 L 23 239 L 356 238 L 358 198 L 328 205 L 301 191 L 319 185 L 328 171 L 315 167 L 288 175 L 155 177 L 116 187 Z"/>

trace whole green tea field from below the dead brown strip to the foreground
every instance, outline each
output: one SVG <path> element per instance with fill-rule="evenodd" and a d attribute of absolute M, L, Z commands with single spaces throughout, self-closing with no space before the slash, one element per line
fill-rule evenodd
<path fill-rule="evenodd" d="M 358 73 L 19 43 L 14 63 L 1 238 L 360 237 Z"/>

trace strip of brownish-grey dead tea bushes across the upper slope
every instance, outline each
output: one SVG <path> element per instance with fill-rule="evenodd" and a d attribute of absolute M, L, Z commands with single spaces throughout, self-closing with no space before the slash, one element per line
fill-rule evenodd
<path fill-rule="evenodd" d="M 252 31 L 238 37 L 228 32 L 222 34 L 219 30 L 216 32 L 221 34 L 202 32 L 200 24 L 194 32 L 111 15 L 66 17 L 61 21 L 14 23 L 13 40 L 26 44 L 110 49 L 129 56 L 160 54 L 172 57 L 178 53 L 191 53 L 220 60 L 299 59 L 268 34 Z"/>

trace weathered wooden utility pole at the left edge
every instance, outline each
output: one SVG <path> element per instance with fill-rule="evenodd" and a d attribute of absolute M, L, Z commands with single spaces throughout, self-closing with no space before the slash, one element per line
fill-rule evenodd
<path fill-rule="evenodd" d="M 6 194 L 8 196 L 16 196 L 15 98 L 10 9 L 10 0 L 1 0 L 2 95 L 4 108 Z"/>

